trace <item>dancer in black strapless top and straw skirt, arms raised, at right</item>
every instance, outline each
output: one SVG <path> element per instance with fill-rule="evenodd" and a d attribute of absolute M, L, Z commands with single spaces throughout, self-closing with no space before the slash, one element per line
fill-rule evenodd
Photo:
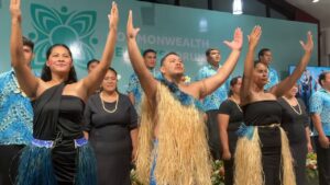
<path fill-rule="evenodd" d="M 276 99 L 287 92 L 304 72 L 314 47 L 312 36 L 308 32 L 307 43 L 300 42 L 305 54 L 293 74 L 266 92 L 268 68 L 262 62 L 254 63 L 261 33 L 261 27 L 255 26 L 249 36 L 241 89 L 245 125 L 239 130 L 234 181 L 237 185 L 295 185 L 288 140 L 279 126 L 282 106 Z"/>

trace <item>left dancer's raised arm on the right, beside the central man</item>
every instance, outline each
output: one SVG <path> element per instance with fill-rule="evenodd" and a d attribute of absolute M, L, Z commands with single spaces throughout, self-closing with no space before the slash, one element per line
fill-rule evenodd
<path fill-rule="evenodd" d="M 113 57 L 116 41 L 117 41 L 117 28 L 118 28 L 118 8 L 117 3 L 112 2 L 111 12 L 108 15 L 109 19 L 109 34 L 103 49 L 103 55 L 100 63 L 85 78 L 82 79 L 82 85 L 87 90 L 88 95 L 95 93 L 95 91 L 101 84 L 108 68 L 111 65 Z"/>

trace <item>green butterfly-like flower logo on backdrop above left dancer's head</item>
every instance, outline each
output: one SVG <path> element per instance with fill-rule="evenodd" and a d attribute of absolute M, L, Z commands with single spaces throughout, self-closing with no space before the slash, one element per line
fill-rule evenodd
<path fill-rule="evenodd" d="M 46 50 L 53 44 L 65 44 L 72 53 L 75 66 L 86 69 L 86 63 L 94 58 L 94 45 L 98 39 L 92 37 L 97 20 L 96 11 L 59 11 L 41 4 L 31 4 L 31 18 L 34 32 L 29 37 L 35 43 L 33 68 L 42 68 L 46 61 Z"/>

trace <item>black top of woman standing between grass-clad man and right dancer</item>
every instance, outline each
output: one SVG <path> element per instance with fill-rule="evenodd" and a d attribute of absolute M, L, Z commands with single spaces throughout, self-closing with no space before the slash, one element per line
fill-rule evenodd
<path fill-rule="evenodd" d="M 237 131 L 243 123 L 243 113 L 239 105 L 232 100 L 226 100 L 221 103 L 219 114 L 229 115 L 228 131 Z"/>

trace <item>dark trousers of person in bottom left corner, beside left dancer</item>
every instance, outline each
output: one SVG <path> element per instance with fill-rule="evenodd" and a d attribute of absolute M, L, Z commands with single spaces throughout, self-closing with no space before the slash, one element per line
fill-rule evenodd
<path fill-rule="evenodd" d="M 12 185 L 18 173 L 22 144 L 0 146 L 0 185 Z"/>

